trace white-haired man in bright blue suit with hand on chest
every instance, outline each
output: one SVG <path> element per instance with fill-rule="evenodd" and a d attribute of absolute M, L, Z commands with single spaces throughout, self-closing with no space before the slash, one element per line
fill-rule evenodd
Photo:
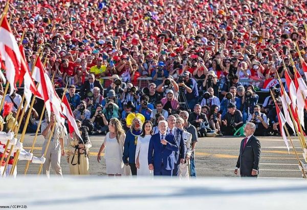
<path fill-rule="evenodd" d="M 154 176 L 172 176 L 174 153 L 179 151 L 177 141 L 172 134 L 167 135 L 167 121 L 158 124 L 159 133 L 152 135 L 148 148 L 148 168 Z"/>

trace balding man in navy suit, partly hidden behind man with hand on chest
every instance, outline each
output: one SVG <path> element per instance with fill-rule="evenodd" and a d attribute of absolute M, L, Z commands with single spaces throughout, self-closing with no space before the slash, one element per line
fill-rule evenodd
<path fill-rule="evenodd" d="M 175 152 L 175 165 L 173 170 L 173 175 L 178 176 L 179 165 L 180 163 L 184 163 L 185 156 L 187 153 L 186 146 L 184 145 L 184 141 L 182 138 L 182 130 L 175 127 L 176 125 L 176 117 L 173 115 L 169 115 L 167 117 L 168 129 L 167 135 L 174 135 L 174 140 L 179 145 L 179 151 Z"/>

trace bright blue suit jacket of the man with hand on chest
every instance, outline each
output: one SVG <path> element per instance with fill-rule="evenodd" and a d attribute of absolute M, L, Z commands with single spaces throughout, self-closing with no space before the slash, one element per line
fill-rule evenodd
<path fill-rule="evenodd" d="M 160 132 L 152 135 L 149 141 L 148 148 L 148 164 L 153 164 L 153 169 L 156 172 L 160 172 L 162 160 L 164 163 L 165 170 L 174 169 L 174 152 L 179 151 L 177 141 L 174 140 L 172 134 L 168 134 L 165 137 L 167 141 L 166 145 L 161 143 Z"/>

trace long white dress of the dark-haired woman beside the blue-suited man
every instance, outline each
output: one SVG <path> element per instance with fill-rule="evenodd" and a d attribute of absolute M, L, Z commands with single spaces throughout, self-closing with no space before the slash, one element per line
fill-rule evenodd
<path fill-rule="evenodd" d="M 153 176 L 148 169 L 148 146 L 151 135 L 144 137 L 138 136 L 138 143 L 136 149 L 136 159 L 139 154 L 140 169 L 137 171 L 137 176 Z"/>

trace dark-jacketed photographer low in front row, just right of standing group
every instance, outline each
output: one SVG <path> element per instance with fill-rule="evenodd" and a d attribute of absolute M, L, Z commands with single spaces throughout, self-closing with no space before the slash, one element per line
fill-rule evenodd
<path fill-rule="evenodd" d="M 198 132 L 198 137 L 205 137 L 207 133 L 211 133 L 207 116 L 201 113 L 202 107 L 200 104 L 194 106 L 194 112 L 189 115 L 188 122 L 190 122 Z M 214 136 L 211 137 L 215 137 Z"/>

